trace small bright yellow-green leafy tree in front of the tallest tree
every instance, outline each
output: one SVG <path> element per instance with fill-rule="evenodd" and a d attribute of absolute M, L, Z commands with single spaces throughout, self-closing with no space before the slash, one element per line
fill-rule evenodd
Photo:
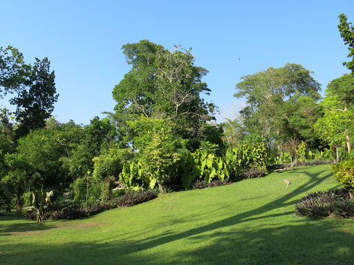
<path fill-rule="evenodd" d="M 186 141 L 173 133 L 174 124 L 168 120 L 140 117 L 129 121 L 129 125 L 136 133 L 133 144 L 139 149 L 138 160 L 123 166 L 120 179 L 129 188 L 153 188 L 158 184 L 162 192 L 162 184 L 176 175 L 180 150 L 185 149 Z"/>

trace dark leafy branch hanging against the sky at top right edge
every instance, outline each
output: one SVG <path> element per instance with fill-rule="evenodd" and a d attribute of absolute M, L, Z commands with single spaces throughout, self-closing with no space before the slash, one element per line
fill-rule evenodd
<path fill-rule="evenodd" d="M 344 44 L 348 44 L 348 58 L 353 57 L 351 61 L 344 61 L 343 65 L 346 66 L 349 70 L 354 72 L 354 26 L 351 26 L 352 23 L 347 22 L 345 14 L 339 14 L 339 32 L 340 36 L 344 40 Z"/>

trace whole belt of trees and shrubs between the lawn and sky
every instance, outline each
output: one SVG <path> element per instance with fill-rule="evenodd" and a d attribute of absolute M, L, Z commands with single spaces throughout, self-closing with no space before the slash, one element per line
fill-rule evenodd
<path fill-rule="evenodd" d="M 352 57 L 353 27 L 339 18 Z M 0 97 L 14 94 L 17 107 L 0 112 L 0 210 L 33 206 L 41 221 L 53 201 L 53 218 L 85 217 L 145 202 L 153 189 L 219 186 L 353 155 L 353 72 L 330 81 L 324 99 L 313 72 L 297 63 L 246 75 L 234 94 L 245 107 L 216 124 L 218 109 L 203 99 L 208 71 L 192 49 L 142 40 L 122 50 L 131 70 L 113 88 L 114 112 L 79 125 L 50 115 L 59 95 L 47 58 L 31 66 L 16 48 L 0 48 Z M 351 193 L 353 168 L 353 159 L 333 167 Z M 326 207 L 308 216 L 334 213 Z"/>

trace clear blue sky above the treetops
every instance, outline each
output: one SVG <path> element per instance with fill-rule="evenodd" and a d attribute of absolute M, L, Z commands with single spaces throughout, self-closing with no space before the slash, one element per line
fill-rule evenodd
<path fill-rule="evenodd" d="M 341 13 L 354 22 L 354 1 L 0 0 L 0 46 L 26 63 L 48 57 L 59 93 L 52 114 L 89 124 L 113 111 L 112 90 L 130 69 L 121 47 L 141 39 L 192 47 L 196 66 L 209 70 L 205 99 L 220 108 L 236 101 L 241 77 L 286 63 L 313 70 L 324 91 L 348 72 Z"/>

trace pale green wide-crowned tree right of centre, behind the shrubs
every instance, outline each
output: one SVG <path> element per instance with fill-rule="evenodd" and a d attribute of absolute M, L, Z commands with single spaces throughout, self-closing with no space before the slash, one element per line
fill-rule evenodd
<path fill-rule="evenodd" d="M 241 77 L 236 84 L 234 97 L 247 99 L 241 110 L 249 133 L 274 138 L 286 135 L 289 130 L 286 101 L 297 103 L 301 96 L 320 98 L 320 84 L 311 77 L 310 70 L 296 63 L 287 63 L 282 68 L 268 68 L 254 75 Z M 292 137 L 292 135 L 288 135 Z"/>

